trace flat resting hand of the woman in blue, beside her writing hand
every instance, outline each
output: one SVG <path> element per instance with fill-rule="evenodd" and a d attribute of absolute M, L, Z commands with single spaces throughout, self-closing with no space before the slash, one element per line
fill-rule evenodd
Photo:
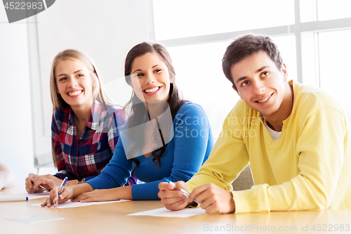
<path fill-rule="evenodd" d="M 121 200 L 121 195 L 119 190 L 131 187 L 121 187 L 121 188 L 110 188 L 110 189 L 95 189 L 91 192 L 82 193 L 76 198 L 72 199 L 72 202 L 105 202 L 105 201 L 116 201 Z M 131 188 L 130 188 L 131 189 Z"/>

